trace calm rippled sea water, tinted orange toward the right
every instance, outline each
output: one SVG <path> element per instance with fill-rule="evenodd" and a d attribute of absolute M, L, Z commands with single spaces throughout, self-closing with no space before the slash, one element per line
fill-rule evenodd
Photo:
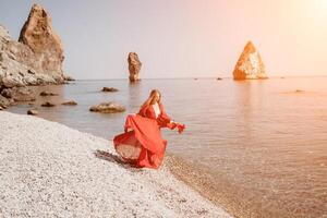
<path fill-rule="evenodd" d="M 137 112 L 149 90 L 158 88 L 167 112 L 186 124 L 182 135 L 164 131 L 168 150 L 208 173 L 210 184 L 219 185 L 217 192 L 231 190 L 226 197 L 247 211 L 227 205 L 230 213 L 242 217 L 326 217 L 326 84 L 327 77 L 143 80 L 132 85 L 126 80 L 76 81 L 51 86 L 59 96 L 9 111 L 26 113 L 37 108 L 39 117 L 112 138 L 123 131 L 126 114 Z M 119 92 L 101 93 L 104 86 Z M 78 105 L 39 107 L 45 100 L 60 104 L 70 99 Z M 114 114 L 88 111 L 101 101 L 118 101 L 128 110 Z"/>

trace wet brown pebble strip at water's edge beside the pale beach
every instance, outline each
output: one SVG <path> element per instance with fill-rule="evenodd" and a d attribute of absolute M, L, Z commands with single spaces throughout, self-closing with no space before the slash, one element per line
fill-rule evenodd
<path fill-rule="evenodd" d="M 171 173 L 191 186 L 205 198 L 209 199 L 216 206 L 223 208 L 229 215 L 238 217 L 284 217 L 282 214 L 278 216 L 274 214 L 267 215 L 263 211 L 255 211 L 249 203 L 244 203 L 245 193 L 238 189 L 237 185 L 230 183 L 226 178 L 214 178 L 209 169 L 196 167 L 187 160 L 168 154 L 165 159 L 169 166 Z"/>

